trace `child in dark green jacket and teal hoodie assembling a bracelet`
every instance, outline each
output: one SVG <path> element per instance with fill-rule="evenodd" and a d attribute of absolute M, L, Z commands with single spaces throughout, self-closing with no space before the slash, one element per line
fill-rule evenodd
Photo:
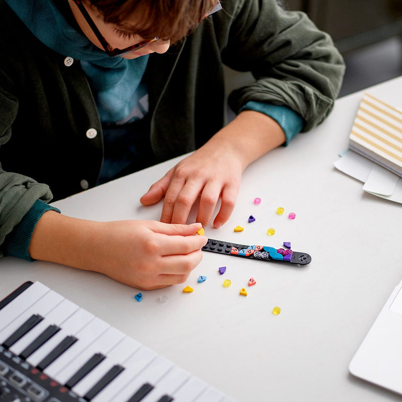
<path fill-rule="evenodd" d="M 275 0 L 0 0 L 0 243 L 5 255 L 142 289 L 185 281 L 243 170 L 330 112 L 344 72 L 328 35 Z M 214 12 L 216 11 L 216 12 Z M 213 13 L 214 12 L 214 13 Z M 223 63 L 256 81 L 230 96 Z M 47 205 L 196 150 L 154 183 L 161 222 L 91 222 Z M 197 224 L 185 225 L 200 196 Z M 141 252 L 140 252 L 141 251 Z"/>

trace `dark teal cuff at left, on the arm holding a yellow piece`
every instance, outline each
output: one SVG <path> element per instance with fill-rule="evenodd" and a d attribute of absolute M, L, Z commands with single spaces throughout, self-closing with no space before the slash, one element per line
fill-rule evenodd
<path fill-rule="evenodd" d="M 28 251 L 32 233 L 34 233 L 35 226 L 39 219 L 47 211 L 60 213 L 60 210 L 51 207 L 40 199 L 35 201 L 31 209 L 24 215 L 24 218 L 14 227 L 13 231 L 7 235 L 3 245 L 5 255 L 34 261 Z"/>

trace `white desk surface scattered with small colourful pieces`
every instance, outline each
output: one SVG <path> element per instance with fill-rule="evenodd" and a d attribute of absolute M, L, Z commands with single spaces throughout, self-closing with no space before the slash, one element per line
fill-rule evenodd
<path fill-rule="evenodd" d="M 370 88 L 401 106 L 402 78 Z M 333 167 L 348 145 L 361 93 L 337 101 L 317 129 L 269 153 L 243 176 L 229 222 L 206 235 L 312 255 L 306 267 L 204 253 L 186 283 L 143 292 L 101 274 L 43 262 L 0 260 L 0 296 L 40 280 L 159 354 L 243 402 L 389 401 L 400 397 L 352 377 L 348 364 L 402 278 L 401 206 L 364 193 Z M 247 133 L 245 133 L 247 135 Z M 55 203 L 93 220 L 159 219 L 140 196 L 168 161 Z M 260 197 L 261 205 L 253 200 Z M 282 216 L 276 209 L 283 207 Z M 289 212 L 296 214 L 293 221 Z M 248 224 L 249 215 L 256 221 Z M 191 216 L 195 219 L 195 213 Z M 244 232 L 234 233 L 241 225 Z M 274 236 L 266 234 L 274 228 Z M 221 276 L 218 267 L 227 266 Z M 207 275 L 197 283 L 198 275 Z M 253 276 L 257 284 L 248 287 Z M 232 286 L 224 288 L 224 279 Z M 190 285 L 194 291 L 182 293 Z M 248 296 L 239 295 L 246 287 Z M 160 295 L 168 296 L 166 305 Z M 281 313 L 274 316 L 274 306 Z"/>

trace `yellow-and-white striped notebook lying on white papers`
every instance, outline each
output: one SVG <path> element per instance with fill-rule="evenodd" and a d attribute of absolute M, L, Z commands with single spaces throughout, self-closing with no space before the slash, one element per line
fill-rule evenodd
<path fill-rule="evenodd" d="M 349 140 L 350 149 L 402 176 L 402 111 L 365 93 Z"/>

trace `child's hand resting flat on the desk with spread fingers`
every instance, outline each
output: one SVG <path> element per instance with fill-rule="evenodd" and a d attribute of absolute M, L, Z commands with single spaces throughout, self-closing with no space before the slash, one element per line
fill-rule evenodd
<path fill-rule="evenodd" d="M 230 147 L 211 148 L 206 144 L 180 161 L 141 197 L 142 204 L 150 205 L 165 196 L 161 222 L 185 223 L 198 196 L 196 222 L 208 225 L 219 198 L 222 203 L 214 227 L 229 219 L 239 192 L 242 161 Z"/>

